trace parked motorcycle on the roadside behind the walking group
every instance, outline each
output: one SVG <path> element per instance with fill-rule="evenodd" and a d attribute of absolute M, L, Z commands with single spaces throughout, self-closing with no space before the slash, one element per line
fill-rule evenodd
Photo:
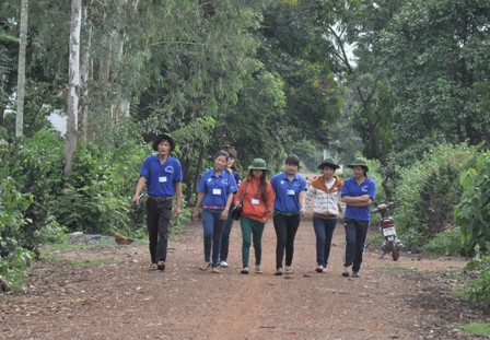
<path fill-rule="evenodd" d="M 398 202 L 383 203 L 371 211 L 371 213 L 381 214 L 378 228 L 385 239 L 383 245 L 381 246 L 381 249 L 383 250 L 383 255 L 381 258 L 383 258 L 386 254 L 392 253 L 394 261 L 398 260 L 400 250 L 404 247 L 398 237 L 396 237 L 395 221 L 390 216 L 388 216 L 388 209 L 395 206 L 398 206 Z"/>

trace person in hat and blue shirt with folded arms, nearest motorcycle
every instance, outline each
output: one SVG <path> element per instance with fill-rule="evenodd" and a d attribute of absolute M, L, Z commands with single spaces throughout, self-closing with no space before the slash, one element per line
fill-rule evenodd
<path fill-rule="evenodd" d="M 370 206 L 376 196 L 376 184 L 368 177 L 369 168 L 365 160 L 355 159 L 348 167 L 354 172 L 343 183 L 340 196 L 347 208 L 343 214 L 346 228 L 346 248 L 343 253 L 343 277 L 349 277 L 349 267 L 352 266 L 352 278 L 359 278 L 362 255 L 364 253 L 365 237 L 370 226 Z"/>

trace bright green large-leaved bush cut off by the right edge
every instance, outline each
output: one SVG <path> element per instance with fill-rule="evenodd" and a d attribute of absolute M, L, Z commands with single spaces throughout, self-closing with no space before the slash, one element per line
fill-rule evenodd
<path fill-rule="evenodd" d="M 468 162 L 460 175 L 464 192 L 454 211 L 456 224 L 462 230 L 465 247 L 474 251 L 478 245 L 480 250 L 488 251 L 490 242 L 490 151 L 477 153 Z"/>

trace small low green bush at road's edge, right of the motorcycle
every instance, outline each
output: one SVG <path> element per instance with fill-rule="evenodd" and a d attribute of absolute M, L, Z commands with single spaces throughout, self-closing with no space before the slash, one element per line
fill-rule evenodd
<path fill-rule="evenodd" d="M 434 238 L 432 238 L 422 248 L 423 253 L 434 254 L 434 255 L 445 255 L 445 256 L 458 256 L 464 255 L 464 247 L 462 242 L 462 235 L 459 233 L 459 227 L 454 227 L 454 225 L 445 228 L 443 232 L 439 233 Z"/>

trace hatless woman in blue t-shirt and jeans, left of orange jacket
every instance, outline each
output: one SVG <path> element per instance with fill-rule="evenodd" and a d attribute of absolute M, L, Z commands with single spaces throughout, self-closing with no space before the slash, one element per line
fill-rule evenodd
<path fill-rule="evenodd" d="M 205 263 L 199 270 L 206 271 L 212 267 L 211 272 L 219 273 L 218 259 L 221 248 L 221 234 L 226 222 L 233 194 L 236 192 L 236 183 L 233 174 L 226 172 L 229 154 L 220 150 L 214 154 L 214 167 L 205 172 L 197 186 L 199 191 L 192 220 L 197 221 L 199 207 L 202 203 L 202 226 L 205 230 Z M 211 262 L 212 248 L 212 262 Z"/>

